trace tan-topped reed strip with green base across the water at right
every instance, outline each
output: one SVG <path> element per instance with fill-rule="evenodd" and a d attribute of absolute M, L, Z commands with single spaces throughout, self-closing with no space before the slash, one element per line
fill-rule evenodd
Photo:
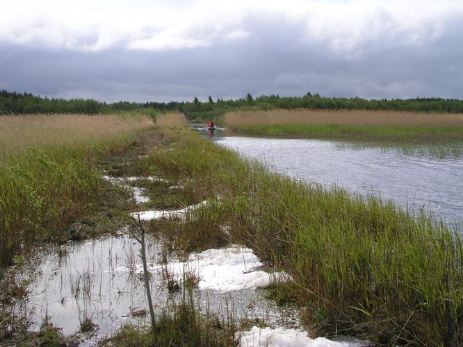
<path fill-rule="evenodd" d="M 463 115 L 353 110 L 229 112 L 225 126 L 243 133 L 297 137 L 463 140 Z"/>

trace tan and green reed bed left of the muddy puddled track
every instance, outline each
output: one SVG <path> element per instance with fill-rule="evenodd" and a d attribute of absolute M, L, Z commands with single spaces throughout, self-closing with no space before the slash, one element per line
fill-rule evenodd
<path fill-rule="evenodd" d="M 152 126 L 150 117 L 1 116 L 0 266 L 94 208 L 103 189 L 96 160 Z"/>

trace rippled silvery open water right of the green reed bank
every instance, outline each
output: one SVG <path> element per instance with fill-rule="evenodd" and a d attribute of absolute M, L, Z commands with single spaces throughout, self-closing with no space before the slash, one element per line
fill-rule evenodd
<path fill-rule="evenodd" d="M 457 226 L 463 220 L 461 156 L 407 154 L 399 148 L 318 139 L 231 136 L 220 130 L 210 138 L 282 174 L 364 196 L 374 194 L 414 211 L 424 209 L 461 230 Z"/>

